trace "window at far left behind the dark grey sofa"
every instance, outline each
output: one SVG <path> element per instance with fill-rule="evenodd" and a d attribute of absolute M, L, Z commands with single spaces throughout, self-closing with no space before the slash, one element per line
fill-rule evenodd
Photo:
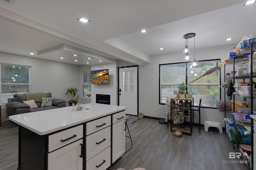
<path fill-rule="evenodd" d="M 30 92 L 30 66 L 1 63 L 1 102 L 7 103 L 13 93 Z"/>

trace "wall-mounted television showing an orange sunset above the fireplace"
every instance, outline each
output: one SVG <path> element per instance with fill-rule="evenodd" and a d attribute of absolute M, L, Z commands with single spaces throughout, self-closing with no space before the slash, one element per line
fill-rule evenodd
<path fill-rule="evenodd" d="M 92 84 L 109 84 L 108 69 L 91 71 Z"/>

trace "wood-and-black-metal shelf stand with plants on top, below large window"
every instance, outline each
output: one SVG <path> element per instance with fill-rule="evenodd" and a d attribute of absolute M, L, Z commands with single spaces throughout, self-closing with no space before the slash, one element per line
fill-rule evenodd
<path fill-rule="evenodd" d="M 173 106 L 172 105 L 172 101 L 175 100 L 176 101 L 176 105 Z M 179 107 L 178 106 L 178 101 L 186 101 L 190 103 L 190 107 Z M 190 136 L 192 136 L 192 111 L 191 111 L 191 107 L 192 105 L 194 104 L 194 98 L 193 97 L 172 97 L 171 99 L 171 132 L 172 130 L 179 130 L 181 132 L 184 132 L 184 133 L 189 133 Z M 174 112 L 173 109 L 182 109 L 182 110 L 190 110 L 190 112 L 188 113 L 188 115 L 184 114 L 184 115 L 179 115 L 177 114 L 176 112 Z M 190 118 L 190 129 L 187 129 L 187 128 L 181 128 L 181 127 L 174 127 L 174 122 L 173 122 L 173 117 L 174 116 L 179 116 L 179 117 L 188 117 Z"/>

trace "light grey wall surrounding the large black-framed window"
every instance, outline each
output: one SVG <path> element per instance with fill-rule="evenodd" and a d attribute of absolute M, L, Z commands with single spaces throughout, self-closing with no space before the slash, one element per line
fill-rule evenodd
<path fill-rule="evenodd" d="M 233 45 L 196 49 L 196 60 L 221 59 L 222 61 L 227 58 L 227 53 L 232 52 L 232 50 Z M 194 59 L 194 55 L 192 56 Z M 185 62 L 182 48 L 178 53 L 152 56 L 150 63 L 139 67 L 139 112 L 150 117 L 164 118 L 165 106 L 159 104 L 159 64 L 178 62 Z M 222 68 L 222 82 L 224 82 L 223 72 Z M 194 115 L 194 121 L 196 123 L 198 123 L 197 115 L 198 114 Z M 224 126 L 224 112 L 220 113 L 218 109 L 202 109 L 201 124 L 204 123 L 205 120 L 218 121 Z"/>

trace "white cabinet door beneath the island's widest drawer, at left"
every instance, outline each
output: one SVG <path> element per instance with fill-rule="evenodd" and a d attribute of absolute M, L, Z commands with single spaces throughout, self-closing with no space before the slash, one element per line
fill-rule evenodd
<path fill-rule="evenodd" d="M 48 170 L 82 170 L 83 140 L 68 144 L 48 154 Z"/>

